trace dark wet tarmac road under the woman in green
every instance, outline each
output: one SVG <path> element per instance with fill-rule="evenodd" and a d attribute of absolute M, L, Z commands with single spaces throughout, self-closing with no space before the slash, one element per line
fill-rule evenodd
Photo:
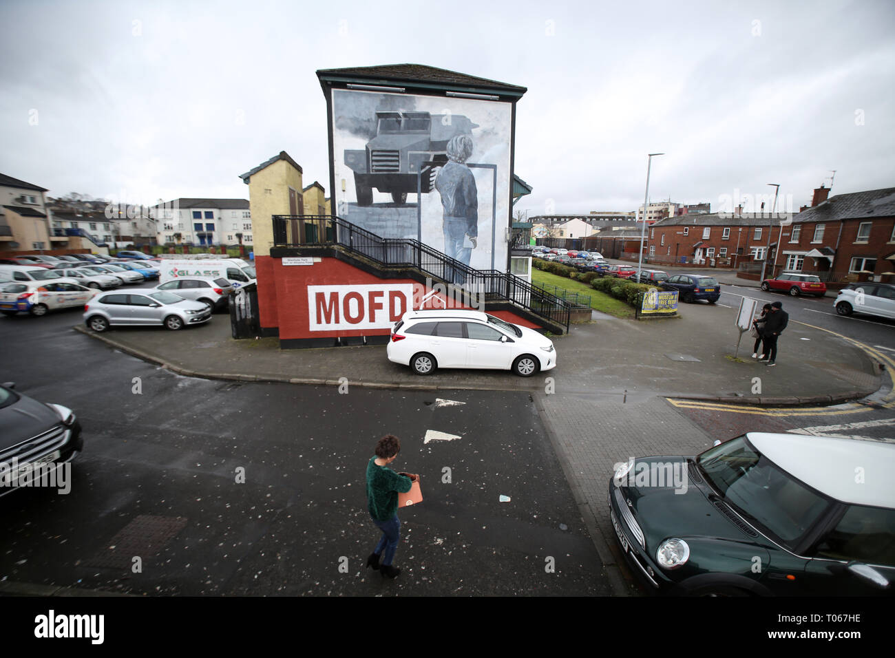
<path fill-rule="evenodd" d="M 14 346 L 0 380 L 71 406 L 85 435 L 71 493 L 0 498 L 0 581 L 139 594 L 609 594 L 527 393 L 442 391 L 465 403 L 445 406 L 434 393 L 184 378 L 72 331 L 78 317 L 0 320 L 0 344 Z M 424 443 L 430 430 L 459 438 Z M 363 568 L 378 538 L 364 471 L 386 432 L 403 438 L 396 466 L 422 475 L 424 495 L 402 510 L 406 570 L 394 582 Z"/>

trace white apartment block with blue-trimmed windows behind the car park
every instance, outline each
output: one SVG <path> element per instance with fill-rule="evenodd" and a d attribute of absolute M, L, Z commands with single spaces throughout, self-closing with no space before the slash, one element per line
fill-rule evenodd
<path fill-rule="evenodd" d="M 245 199 L 175 199 L 153 207 L 158 225 L 158 244 L 209 246 L 252 244 L 249 201 Z"/>

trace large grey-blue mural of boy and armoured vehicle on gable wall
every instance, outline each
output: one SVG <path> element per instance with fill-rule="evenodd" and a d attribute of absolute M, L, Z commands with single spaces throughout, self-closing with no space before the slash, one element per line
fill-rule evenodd
<path fill-rule="evenodd" d="M 332 107 L 339 217 L 506 269 L 509 103 L 333 90 Z"/>

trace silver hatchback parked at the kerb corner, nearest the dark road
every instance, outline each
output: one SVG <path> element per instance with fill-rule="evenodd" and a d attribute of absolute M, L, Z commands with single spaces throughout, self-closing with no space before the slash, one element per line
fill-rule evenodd
<path fill-rule="evenodd" d="M 94 331 L 110 326 L 163 325 L 183 329 L 187 325 L 211 320 L 209 305 L 161 290 L 141 293 L 97 295 L 84 306 L 84 321 Z"/>

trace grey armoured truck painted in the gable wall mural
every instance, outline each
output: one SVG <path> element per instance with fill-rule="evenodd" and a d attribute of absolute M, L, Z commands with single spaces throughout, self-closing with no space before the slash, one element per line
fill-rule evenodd
<path fill-rule="evenodd" d="M 472 135 L 478 128 L 464 115 L 429 112 L 377 112 L 376 137 L 364 150 L 345 150 L 345 165 L 354 171 L 357 204 L 370 206 L 373 188 L 405 203 L 416 192 L 431 191 L 429 172 L 447 162 L 447 142 L 456 135 Z M 435 163 L 430 164 L 430 163 Z"/>

